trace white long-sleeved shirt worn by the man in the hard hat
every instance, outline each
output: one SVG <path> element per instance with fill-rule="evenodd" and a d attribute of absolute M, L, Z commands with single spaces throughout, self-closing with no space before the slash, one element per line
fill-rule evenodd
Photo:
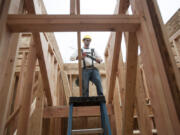
<path fill-rule="evenodd" d="M 90 56 L 91 56 L 91 49 L 92 48 L 82 48 L 83 53 L 88 53 L 88 55 L 90 55 Z M 77 57 L 78 57 L 78 50 L 76 50 L 71 55 L 70 60 L 72 60 L 72 61 L 77 60 Z M 94 49 L 93 57 L 99 59 L 100 61 L 102 61 L 102 58 L 100 57 L 100 55 L 97 53 L 97 51 L 95 49 Z M 92 66 L 92 59 L 91 58 L 85 57 L 84 61 L 85 61 L 86 66 Z M 82 62 L 81 65 L 83 67 L 83 60 L 81 62 Z"/>

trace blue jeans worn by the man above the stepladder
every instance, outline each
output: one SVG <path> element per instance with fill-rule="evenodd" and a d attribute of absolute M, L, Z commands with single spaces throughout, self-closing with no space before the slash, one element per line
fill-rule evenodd
<path fill-rule="evenodd" d="M 96 85 L 97 94 L 99 96 L 103 95 L 103 88 L 101 85 L 101 77 L 99 71 L 96 68 L 84 69 L 82 70 L 82 95 L 84 97 L 89 96 L 89 81 Z"/>

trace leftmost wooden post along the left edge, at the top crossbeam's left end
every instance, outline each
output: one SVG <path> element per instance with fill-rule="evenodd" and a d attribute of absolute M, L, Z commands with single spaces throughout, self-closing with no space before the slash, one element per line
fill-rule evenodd
<path fill-rule="evenodd" d="M 19 34 L 11 34 L 7 27 L 8 11 L 14 13 L 22 12 L 23 3 L 15 0 L 15 4 L 10 7 L 10 0 L 3 0 L 0 7 L 0 135 L 3 135 L 7 112 L 10 102 L 10 95 L 13 92 L 10 88 L 14 72 L 15 55 Z M 6 57 L 4 57 L 6 56 Z"/>

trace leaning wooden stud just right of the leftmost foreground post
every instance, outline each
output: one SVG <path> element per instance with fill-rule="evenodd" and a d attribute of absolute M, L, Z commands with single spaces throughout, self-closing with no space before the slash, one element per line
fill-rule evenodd
<path fill-rule="evenodd" d="M 34 70 L 37 61 L 36 48 L 34 42 L 31 42 L 30 52 L 27 58 L 27 72 L 25 74 L 24 80 L 24 91 L 22 98 L 22 108 L 20 110 L 18 119 L 18 135 L 27 135 L 28 124 L 29 124 L 29 114 L 31 108 L 31 96 L 32 96 L 32 84 L 34 77 Z"/>

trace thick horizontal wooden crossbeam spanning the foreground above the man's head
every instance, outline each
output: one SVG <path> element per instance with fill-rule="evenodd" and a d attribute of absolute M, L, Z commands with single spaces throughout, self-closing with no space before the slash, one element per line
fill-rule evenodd
<path fill-rule="evenodd" d="M 9 15 L 12 32 L 129 31 L 140 19 L 134 15 Z"/>

